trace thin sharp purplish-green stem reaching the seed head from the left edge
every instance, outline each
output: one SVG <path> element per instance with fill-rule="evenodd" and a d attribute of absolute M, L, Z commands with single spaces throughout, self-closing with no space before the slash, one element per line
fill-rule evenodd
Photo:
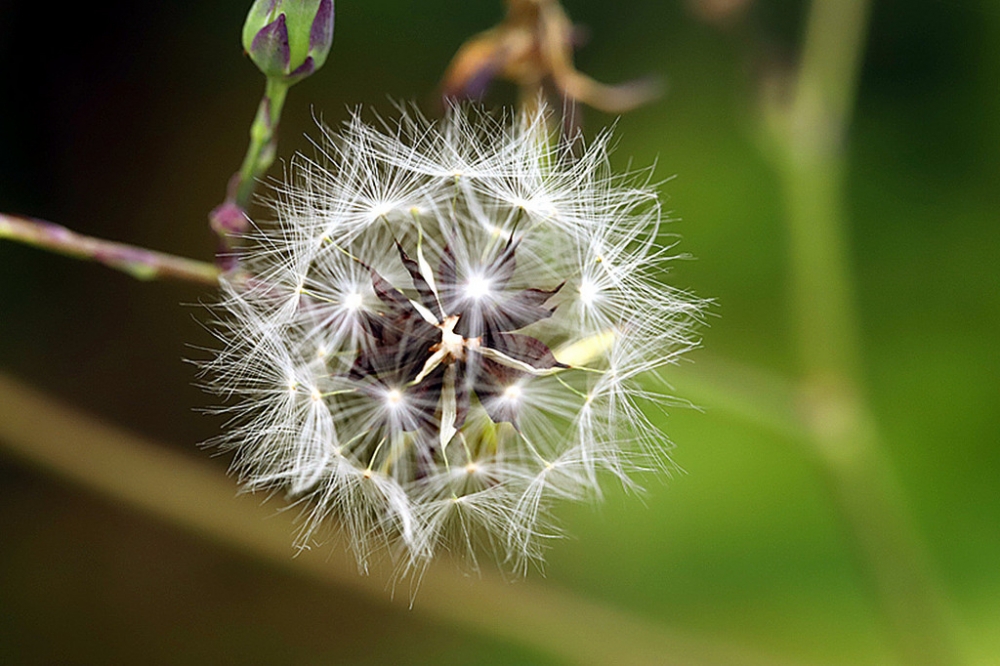
<path fill-rule="evenodd" d="M 138 280 L 185 280 L 213 286 L 219 283 L 220 271 L 213 264 L 84 236 L 45 220 L 0 213 L 0 240 L 96 261 Z"/>

